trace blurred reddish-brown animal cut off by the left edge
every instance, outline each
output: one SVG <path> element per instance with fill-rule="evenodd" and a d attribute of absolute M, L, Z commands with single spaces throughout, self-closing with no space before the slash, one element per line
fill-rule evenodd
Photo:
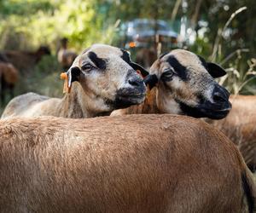
<path fill-rule="evenodd" d="M 0 95 L 1 95 L 1 105 L 5 101 L 5 95 L 9 91 L 11 97 L 14 97 L 14 87 L 15 83 L 18 82 L 19 72 L 11 63 L 0 62 Z"/>

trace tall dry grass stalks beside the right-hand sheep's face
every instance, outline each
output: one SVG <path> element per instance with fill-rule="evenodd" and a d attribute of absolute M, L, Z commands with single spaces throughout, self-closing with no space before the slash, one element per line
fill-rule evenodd
<path fill-rule="evenodd" d="M 236 49 L 236 51 L 223 57 L 222 49 L 224 40 L 224 32 L 230 25 L 236 15 L 246 10 L 247 7 L 241 7 L 230 15 L 223 28 L 218 29 L 218 36 L 215 39 L 211 60 L 218 62 L 225 67 L 228 75 L 220 78 L 219 83 L 230 90 L 232 94 L 251 94 L 256 95 L 256 59 L 247 60 L 247 53 L 250 49 Z"/>

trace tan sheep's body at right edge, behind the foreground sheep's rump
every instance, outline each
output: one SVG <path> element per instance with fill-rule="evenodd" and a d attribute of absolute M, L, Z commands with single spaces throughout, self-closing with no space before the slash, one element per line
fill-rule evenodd
<path fill-rule="evenodd" d="M 256 96 L 231 95 L 232 110 L 220 121 L 207 122 L 214 124 L 239 147 L 250 170 L 256 169 Z"/>

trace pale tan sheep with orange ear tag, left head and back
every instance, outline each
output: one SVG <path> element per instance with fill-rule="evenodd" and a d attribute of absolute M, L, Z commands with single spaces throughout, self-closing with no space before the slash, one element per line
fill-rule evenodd
<path fill-rule="evenodd" d="M 84 50 L 67 71 L 67 91 L 62 99 L 28 93 L 15 97 L 2 118 L 55 116 L 92 118 L 109 115 L 145 99 L 146 86 L 136 72 L 143 67 L 131 62 L 123 49 L 94 44 Z M 145 70 L 143 72 L 146 72 Z"/>

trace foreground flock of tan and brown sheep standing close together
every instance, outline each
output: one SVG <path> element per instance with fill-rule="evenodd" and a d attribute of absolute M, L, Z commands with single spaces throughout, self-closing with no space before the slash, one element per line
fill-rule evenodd
<path fill-rule="evenodd" d="M 124 49 L 85 49 L 62 99 L 4 109 L 0 211 L 256 212 L 256 99 L 230 97 L 225 74 L 183 49 L 149 72 Z"/>

